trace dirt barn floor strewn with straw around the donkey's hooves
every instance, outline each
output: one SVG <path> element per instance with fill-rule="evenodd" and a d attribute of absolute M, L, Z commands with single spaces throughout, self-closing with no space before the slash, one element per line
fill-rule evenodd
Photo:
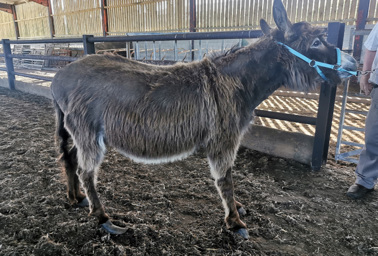
<path fill-rule="evenodd" d="M 271 97 L 261 108 L 315 115 L 316 101 Z M 367 110 L 363 104 L 350 108 Z M 335 163 L 335 119 L 328 164 L 308 166 L 240 148 L 235 197 L 251 238 L 227 230 L 220 197 L 200 150 L 186 160 L 143 165 L 109 150 L 97 189 L 115 224 L 109 235 L 71 205 L 56 162 L 49 99 L 0 87 L 0 255 L 378 255 L 378 193 L 351 199 L 355 164 Z M 311 134 L 313 126 L 257 120 Z M 363 118 L 347 122 L 363 126 Z M 357 133 L 349 140 L 363 141 Z"/>

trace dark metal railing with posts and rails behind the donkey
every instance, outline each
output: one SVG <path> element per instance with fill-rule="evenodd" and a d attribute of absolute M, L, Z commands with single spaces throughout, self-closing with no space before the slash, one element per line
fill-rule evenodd
<path fill-rule="evenodd" d="M 328 25 L 328 41 L 335 44 L 339 48 L 342 47 L 342 36 L 344 35 L 345 24 L 334 22 Z M 177 49 L 177 41 L 192 40 L 190 52 L 193 53 L 193 40 L 211 40 L 211 39 L 241 39 L 241 38 L 258 38 L 262 36 L 261 30 L 244 30 L 244 31 L 223 31 L 223 32 L 192 32 L 192 33 L 169 33 L 169 34 L 147 34 L 147 35 L 128 35 L 128 36 L 106 36 L 94 37 L 93 35 L 83 35 L 82 38 L 63 38 L 63 39 L 39 39 L 39 40 L 9 40 L 3 39 L 4 54 L 0 57 L 5 58 L 7 68 L 0 68 L 0 70 L 7 71 L 9 88 L 15 89 L 15 76 L 25 76 L 34 79 L 45 81 L 52 81 L 50 77 L 36 76 L 15 72 L 13 66 L 13 58 L 27 58 L 36 60 L 56 60 L 74 62 L 81 59 L 81 57 L 64 57 L 64 56 L 41 56 L 41 55 L 19 55 L 12 54 L 11 44 L 30 44 L 30 43 L 83 43 L 84 54 L 95 54 L 95 42 L 140 42 L 153 41 L 156 52 L 156 41 L 174 41 L 175 49 Z M 340 45 L 341 44 L 341 45 Z M 139 45 L 139 43 L 137 44 Z M 201 47 L 201 43 L 200 43 Z M 176 51 L 177 53 L 177 51 Z M 136 59 L 139 59 L 139 47 L 136 47 Z M 194 59 L 191 58 L 193 61 Z M 152 61 L 154 62 L 154 60 Z M 329 147 L 329 139 L 331 134 L 331 123 L 334 111 L 336 97 L 336 86 L 329 86 L 322 83 L 321 93 L 319 98 L 319 109 L 317 117 L 308 117 L 301 115 L 292 115 L 278 112 L 269 112 L 257 110 L 255 114 L 259 117 L 274 118 L 284 121 L 291 121 L 303 124 L 316 125 L 314 135 L 314 143 L 312 150 L 311 168 L 313 170 L 320 170 L 321 166 L 326 163 Z"/>

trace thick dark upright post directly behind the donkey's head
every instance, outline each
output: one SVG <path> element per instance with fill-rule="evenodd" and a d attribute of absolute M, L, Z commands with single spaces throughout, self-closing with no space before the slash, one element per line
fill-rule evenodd
<path fill-rule="evenodd" d="M 344 29 L 344 23 L 330 22 L 328 24 L 327 41 L 341 48 L 343 44 Z M 327 162 L 335 98 L 336 85 L 323 82 L 320 89 L 317 123 L 312 147 L 312 170 L 320 170 L 322 165 Z"/>

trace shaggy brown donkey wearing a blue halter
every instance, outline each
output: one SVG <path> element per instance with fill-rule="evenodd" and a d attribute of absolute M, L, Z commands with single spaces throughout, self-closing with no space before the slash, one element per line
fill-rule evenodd
<path fill-rule="evenodd" d="M 292 24 L 280 0 L 275 0 L 273 14 L 277 28 L 261 20 L 264 35 L 257 42 L 200 62 L 154 66 L 91 55 L 59 71 L 51 91 L 69 200 L 89 204 L 90 216 L 97 217 L 103 229 L 122 234 L 126 229 L 111 223 L 95 188 L 106 148 L 136 162 L 158 164 L 181 160 L 203 147 L 227 227 L 249 238 L 239 218 L 246 212 L 234 199 L 231 168 L 253 111 L 282 85 L 309 91 L 323 81 L 286 46 L 314 61 L 337 62 L 335 46 L 321 29 L 305 22 Z M 349 75 L 346 71 L 356 70 L 356 62 L 342 53 L 341 68 L 319 69 L 330 83 L 338 84 Z"/>

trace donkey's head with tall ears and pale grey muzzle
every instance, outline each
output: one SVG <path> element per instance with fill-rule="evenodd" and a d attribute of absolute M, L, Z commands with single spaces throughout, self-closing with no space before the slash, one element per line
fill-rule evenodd
<path fill-rule="evenodd" d="M 277 29 L 272 29 L 265 20 L 260 20 L 261 29 L 265 35 L 272 36 L 273 40 L 286 44 L 310 60 L 331 65 L 337 64 L 336 48 L 334 45 L 327 42 L 326 33 L 324 33 L 323 29 L 312 27 L 307 22 L 292 24 L 287 19 L 287 13 L 281 0 L 274 1 L 273 18 Z M 341 52 L 340 55 L 342 69 L 346 71 L 357 70 L 356 61 L 352 56 L 343 52 Z M 302 72 L 303 69 L 306 69 L 308 72 L 317 73 L 316 69 L 299 59 L 297 64 L 298 65 L 293 68 L 300 68 Z M 319 68 L 324 76 L 334 84 L 340 83 L 341 78 L 350 76 L 350 74 L 345 71 L 337 71 L 325 67 Z"/>

